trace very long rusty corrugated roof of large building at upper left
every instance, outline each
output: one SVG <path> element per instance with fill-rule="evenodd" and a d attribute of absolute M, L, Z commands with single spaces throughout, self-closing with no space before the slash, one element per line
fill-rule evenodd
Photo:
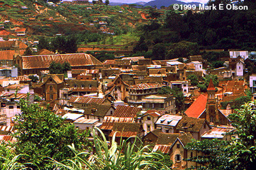
<path fill-rule="evenodd" d="M 86 53 L 23 56 L 22 60 L 22 69 L 49 68 L 52 61 L 69 62 L 71 67 L 102 64 L 95 57 Z"/>

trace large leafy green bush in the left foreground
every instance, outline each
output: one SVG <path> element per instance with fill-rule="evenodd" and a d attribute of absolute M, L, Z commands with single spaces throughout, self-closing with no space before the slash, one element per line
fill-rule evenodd
<path fill-rule="evenodd" d="M 20 115 L 15 119 L 15 138 L 18 139 L 15 151 L 26 154 L 24 162 L 33 162 L 38 167 L 51 169 L 46 157 L 56 160 L 70 159 L 73 153 L 67 145 L 79 147 L 79 134 L 74 125 L 65 123 L 48 109 L 38 104 L 20 100 Z M 36 166 L 32 166 L 37 169 Z"/>

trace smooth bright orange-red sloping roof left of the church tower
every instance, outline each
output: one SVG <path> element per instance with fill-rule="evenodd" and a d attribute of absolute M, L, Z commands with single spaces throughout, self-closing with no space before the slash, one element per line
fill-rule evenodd
<path fill-rule="evenodd" d="M 196 101 L 191 104 L 188 110 L 185 111 L 188 117 L 198 118 L 205 110 L 207 98 L 204 95 L 200 95 Z"/>

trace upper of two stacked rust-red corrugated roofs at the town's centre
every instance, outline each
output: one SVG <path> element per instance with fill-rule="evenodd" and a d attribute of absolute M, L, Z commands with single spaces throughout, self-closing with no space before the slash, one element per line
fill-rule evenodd
<path fill-rule="evenodd" d="M 136 108 L 133 106 L 120 106 L 118 105 L 113 113 L 113 117 L 127 117 L 135 118 L 137 113 L 141 111 L 141 108 Z"/>

